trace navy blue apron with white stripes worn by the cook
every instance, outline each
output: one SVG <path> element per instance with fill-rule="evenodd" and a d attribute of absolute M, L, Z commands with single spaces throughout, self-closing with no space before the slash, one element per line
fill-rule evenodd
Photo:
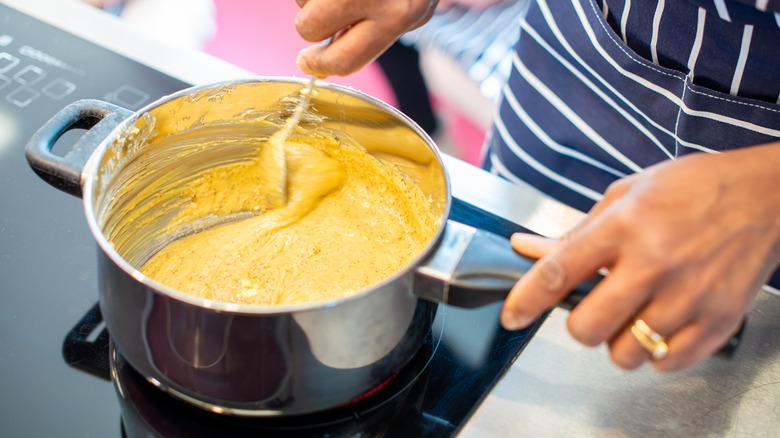
<path fill-rule="evenodd" d="M 484 167 L 587 211 L 660 161 L 780 140 L 772 11 L 780 1 L 533 1 Z"/>

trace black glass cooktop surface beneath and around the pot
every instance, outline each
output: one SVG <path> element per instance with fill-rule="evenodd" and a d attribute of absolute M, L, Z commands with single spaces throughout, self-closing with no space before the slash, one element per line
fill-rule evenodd
<path fill-rule="evenodd" d="M 294 421 L 201 412 L 152 387 L 121 357 L 114 357 L 121 391 L 108 380 L 110 337 L 96 307 L 97 246 L 81 200 L 39 179 L 24 146 L 75 100 L 135 110 L 187 86 L 0 5 L 0 434 L 456 433 L 537 328 L 504 331 L 498 305 L 440 306 L 425 345 L 398 378 L 346 409 Z M 521 229 L 458 200 L 452 218 L 502 235 Z"/>

